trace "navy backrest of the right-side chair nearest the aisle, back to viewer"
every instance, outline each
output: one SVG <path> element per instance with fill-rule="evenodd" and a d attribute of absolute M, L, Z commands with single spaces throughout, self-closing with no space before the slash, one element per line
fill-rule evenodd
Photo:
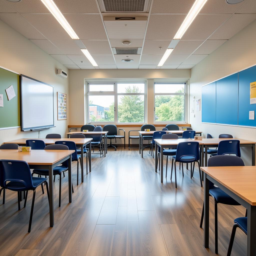
<path fill-rule="evenodd" d="M 199 142 L 189 141 L 180 142 L 177 146 L 176 161 L 180 161 L 183 156 L 193 156 L 195 160 L 199 160 Z"/>

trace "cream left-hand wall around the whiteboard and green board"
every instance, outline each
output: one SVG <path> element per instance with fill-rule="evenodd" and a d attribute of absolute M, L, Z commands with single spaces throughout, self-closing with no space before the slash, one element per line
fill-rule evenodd
<path fill-rule="evenodd" d="M 68 94 L 68 79 L 56 76 L 55 72 L 56 68 L 67 72 L 68 69 L 1 20 L 0 31 L 0 66 L 54 87 L 54 124 L 56 127 L 41 131 L 41 138 L 45 138 L 48 133 L 59 133 L 66 137 L 68 120 L 57 121 L 57 91 Z M 69 95 L 67 99 L 69 101 Z M 21 132 L 20 128 L 0 130 L 0 145 L 4 141 L 29 137 L 37 138 L 38 132 Z"/>

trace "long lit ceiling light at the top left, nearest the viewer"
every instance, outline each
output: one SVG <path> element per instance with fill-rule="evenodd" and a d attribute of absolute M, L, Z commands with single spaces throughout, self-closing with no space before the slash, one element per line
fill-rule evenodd
<path fill-rule="evenodd" d="M 54 16 L 54 18 L 58 21 L 58 23 L 66 30 L 69 36 L 72 39 L 79 39 L 78 35 L 75 33 L 73 28 L 69 25 L 66 18 L 60 12 L 57 5 L 52 0 L 41 0 L 41 2 L 45 5 L 45 7 L 49 10 L 49 12 Z"/>

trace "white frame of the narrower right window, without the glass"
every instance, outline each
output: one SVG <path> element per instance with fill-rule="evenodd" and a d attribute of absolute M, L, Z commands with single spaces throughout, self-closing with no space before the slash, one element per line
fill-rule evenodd
<path fill-rule="evenodd" d="M 156 93 L 155 84 L 184 84 L 184 93 Z M 154 124 L 185 124 L 187 123 L 187 81 L 154 81 Z M 156 95 L 184 95 L 184 122 L 178 121 L 156 121 L 155 120 L 155 96 Z"/>

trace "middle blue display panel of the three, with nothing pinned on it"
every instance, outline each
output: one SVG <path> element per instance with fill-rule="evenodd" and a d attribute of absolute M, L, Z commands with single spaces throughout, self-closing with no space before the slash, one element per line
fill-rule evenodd
<path fill-rule="evenodd" d="M 216 123 L 238 125 L 238 73 L 216 81 Z"/>

